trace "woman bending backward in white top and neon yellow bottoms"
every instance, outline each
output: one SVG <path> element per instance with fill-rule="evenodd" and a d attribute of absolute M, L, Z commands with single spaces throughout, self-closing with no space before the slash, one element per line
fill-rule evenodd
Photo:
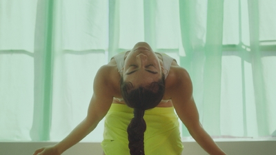
<path fill-rule="evenodd" d="M 61 154 L 92 132 L 104 116 L 101 145 L 106 155 L 179 155 L 183 146 L 174 110 L 208 154 L 225 154 L 199 123 L 188 72 L 170 56 L 139 42 L 99 69 L 86 118 L 63 141 L 37 149 L 34 155 Z"/>

